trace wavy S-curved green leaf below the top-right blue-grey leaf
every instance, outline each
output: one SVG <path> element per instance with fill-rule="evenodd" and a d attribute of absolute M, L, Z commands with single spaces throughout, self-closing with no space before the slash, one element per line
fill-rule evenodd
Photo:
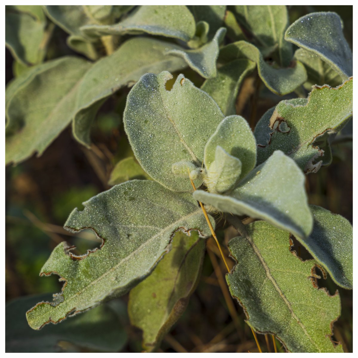
<path fill-rule="evenodd" d="M 297 61 L 293 67 L 275 68 L 267 64 L 258 48 L 246 41 L 237 41 L 225 46 L 220 51 L 219 62 L 233 61 L 237 58 L 248 58 L 257 64 L 257 71 L 270 91 L 283 96 L 293 92 L 306 82 L 305 67 Z"/>

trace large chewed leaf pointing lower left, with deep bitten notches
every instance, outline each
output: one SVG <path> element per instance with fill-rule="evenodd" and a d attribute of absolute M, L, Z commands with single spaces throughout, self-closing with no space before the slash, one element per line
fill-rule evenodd
<path fill-rule="evenodd" d="M 40 275 L 57 274 L 66 284 L 52 303 L 39 303 L 27 312 L 33 329 L 128 292 L 170 251 L 174 232 L 210 234 L 189 193 L 173 193 L 151 180 L 116 185 L 83 205 L 83 211 L 72 211 L 65 228 L 72 232 L 90 228 L 102 245 L 81 256 L 71 253 L 73 247 L 65 242 L 55 247 Z"/>

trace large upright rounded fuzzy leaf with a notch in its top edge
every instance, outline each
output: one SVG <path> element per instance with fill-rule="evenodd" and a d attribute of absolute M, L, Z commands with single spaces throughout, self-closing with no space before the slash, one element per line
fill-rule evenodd
<path fill-rule="evenodd" d="M 184 160 L 201 168 L 205 143 L 224 116 L 213 99 L 182 74 L 167 91 L 165 83 L 171 78 L 169 72 L 142 76 L 127 97 L 123 122 L 144 170 L 166 188 L 191 191 L 189 178 L 175 176 L 171 166 Z"/>

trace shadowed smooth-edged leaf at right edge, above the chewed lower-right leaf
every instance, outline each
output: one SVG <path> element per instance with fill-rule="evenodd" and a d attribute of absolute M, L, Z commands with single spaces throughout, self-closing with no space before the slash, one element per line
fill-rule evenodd
<path fill-rule="evenodd" d="M 353 288 L 353 228 L 343 216 L 310 205 L 313 230 L 300 243 L 346 289 Z"/>

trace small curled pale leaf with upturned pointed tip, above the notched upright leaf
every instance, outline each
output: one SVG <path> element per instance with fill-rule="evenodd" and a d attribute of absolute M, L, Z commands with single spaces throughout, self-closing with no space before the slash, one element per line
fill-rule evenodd
<path fill-rule="evenodd" d="M 216 60 L 219 55 L 219 44 L 226 33 L 226 28 L 217 30 L 214 38 L 196 50 L 175 49 L 168 51 L 168 55 L 182 57 L 194 71 L 204 78 L 216 76 Z"/>

